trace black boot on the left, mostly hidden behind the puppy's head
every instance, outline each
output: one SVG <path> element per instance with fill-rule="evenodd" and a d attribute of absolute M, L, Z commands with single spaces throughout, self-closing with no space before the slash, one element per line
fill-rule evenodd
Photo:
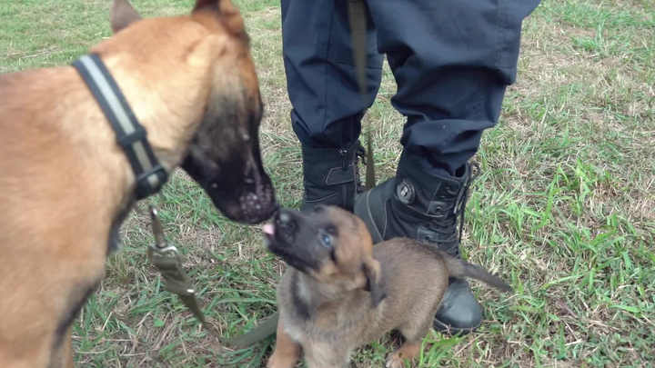
<path fill-rule="evenodd" d="M 357 142 L 348 149 L 302 147 L 305 192 L 301 212 L 317 204 L 338 205 L 353 212 L 358 191 L 359 157 L 363 149 Z"/>

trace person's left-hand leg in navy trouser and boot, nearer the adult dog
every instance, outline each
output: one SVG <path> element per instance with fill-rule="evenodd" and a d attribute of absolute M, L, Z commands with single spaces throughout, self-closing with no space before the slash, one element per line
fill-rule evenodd
<path fill-rule="evenodd" d="M 301 211 L 336 204 L 349 211 L 358 181 L 361 118 L 373 104 L 383 56 L 368 32 L 368 96 L 353 65 L 348 3 L 282 0 L 282 45 L 291 123 L 301 143 L 305 194 Z M 372 22 L 369 19 L 369 25 Z"/>

